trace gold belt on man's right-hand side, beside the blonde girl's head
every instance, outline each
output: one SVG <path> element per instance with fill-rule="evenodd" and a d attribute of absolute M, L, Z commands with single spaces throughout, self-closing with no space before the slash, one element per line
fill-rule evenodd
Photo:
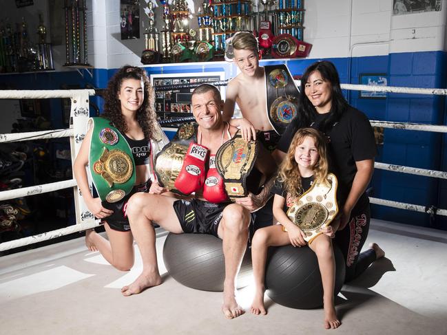
<path fill-rule="evenodd" d="M 256 162 L 258 145 L 257 141 L 244 140 L 238 131 L 216 153 L 216 169 L 231 201 L 248 195 L 247 177 Z"/>

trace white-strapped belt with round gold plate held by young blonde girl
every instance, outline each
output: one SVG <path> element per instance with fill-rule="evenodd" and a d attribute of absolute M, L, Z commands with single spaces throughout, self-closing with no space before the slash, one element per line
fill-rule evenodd
<path fill-rule="evenodd" d="M 328 184 L 314 182 L 287 210 L 287 216 L 306 234 L 304 239 L 309 244 L 322 234 L 320 228 L 329 226 L 338 213 L 337 177 L 329 173 L 327 182 Z M 287 231 L 284 226 L 282 228 Z"/>

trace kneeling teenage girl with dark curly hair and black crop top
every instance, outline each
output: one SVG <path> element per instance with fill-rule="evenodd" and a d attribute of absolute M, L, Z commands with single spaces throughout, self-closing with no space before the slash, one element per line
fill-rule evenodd
<path fill-rule="evenodd" d="M 118 69 L 110 79 L 104 94 L 104 113 L 123 135 L 132 149 L 136 180 L 132 192 L 115 203 L 101 202 L 92 197 L 85 167 L 89 161 L 92 129 L 88 130 L 74 161 L 74 176 L 83 200 L 90 212 L 102 219 L 108 239 L 93 229 L 85 232 L 85 244 L 101 255 L 118 270 L 127 271 L 134 264 L 133 237 L 125 213 L 127 200 L 136 192 L 162 193 L 152 170 L 153 158 L 167 143 L 167 138 L 156 122 L 154 89 L 144 69 L 128 65 Z"/>

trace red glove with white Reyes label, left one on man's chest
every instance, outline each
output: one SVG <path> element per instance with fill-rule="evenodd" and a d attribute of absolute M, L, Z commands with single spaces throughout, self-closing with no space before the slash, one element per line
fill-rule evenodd
<path fill-rule="evenodd" d="M 178 173 L 174 186 L 183 194 L 200 190 L 205 181 L 205 162 L 208 157 L 207 147 L 191 142 L 183 160 L 183 166 Z"/>

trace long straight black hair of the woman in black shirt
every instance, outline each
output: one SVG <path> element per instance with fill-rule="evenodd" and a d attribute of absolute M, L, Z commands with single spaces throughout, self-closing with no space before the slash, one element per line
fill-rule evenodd
<path fill-rule="evenodd" d="M 329 82 L 332 87 L 332 107 L 331 116 L 327 118 L 322 125 L 318 128 L 323 133 L 327 133 L 333 124 L 340 120 L 343 112 L 349 106 L 348 102 L 344 99 L 342 94 L 342 88 L 340 87 L 340 77 L 338 76 L 337 69 L 333 63 L 329 61 L 315 62 L 309 67 L 302 75 L 301 88 L 300 88 L 300 111 L 298 116 L 300 120 L 297 120 L 298 127 L 308 127 L 313 122 L 315 117 L 315 107 L 313 107 L 311 101 L 306 96 L 305 86 L 309 80 L 309 76 L 315 71 L 320 72 L 324 81 Z"/>

